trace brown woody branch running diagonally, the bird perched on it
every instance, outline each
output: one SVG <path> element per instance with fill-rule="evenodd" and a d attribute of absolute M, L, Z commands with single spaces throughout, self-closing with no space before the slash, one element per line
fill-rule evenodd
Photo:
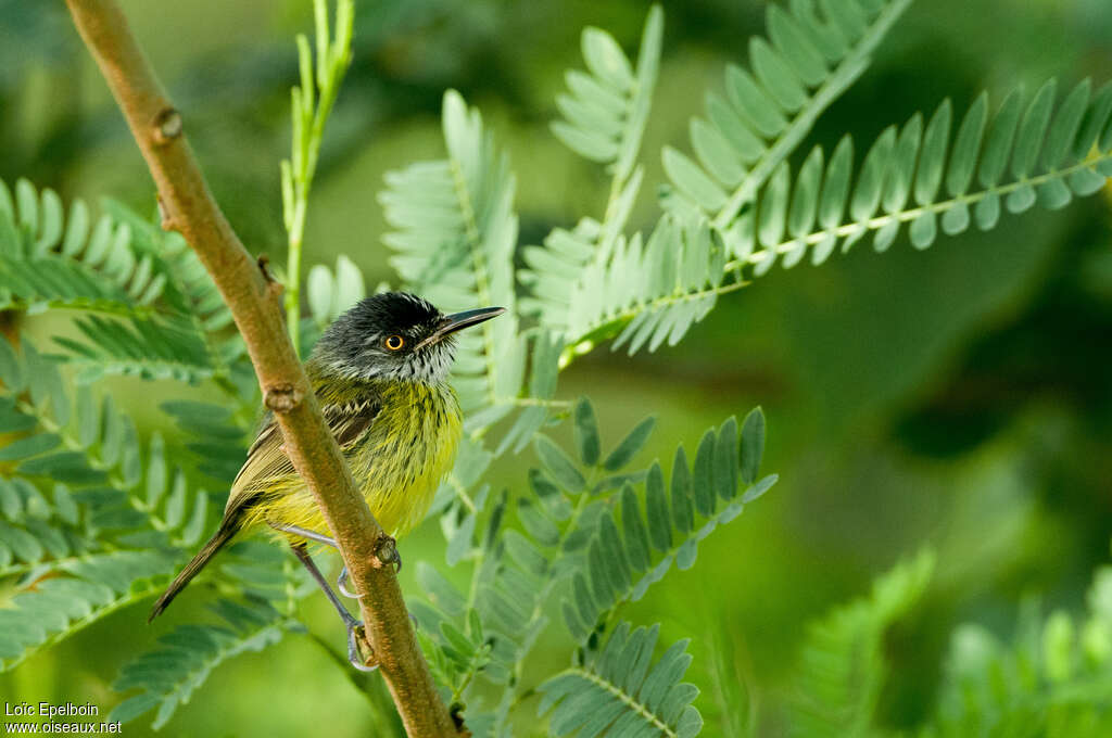
<path fill-rule="evenodd" d="M 212 199 L 183 134 L 181 113 L 155 78 L 113 0 L 67 0 L 158 188 L 163 227 L 180 231 L 231 309 L 286 453 L 317 498 L 363 595 L 366 632 L 410 736 L 455 736 L 417 642 L 401 590 L 376 550 L 381 527 L 357 492 L 294 352 L 281 286 L 250 257 Z"/>

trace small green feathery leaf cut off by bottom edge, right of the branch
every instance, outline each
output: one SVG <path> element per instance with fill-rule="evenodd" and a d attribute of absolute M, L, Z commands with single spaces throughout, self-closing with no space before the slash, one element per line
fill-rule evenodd
<path fill-rule="evenodd" d="M 550 736 L 643 736 L 687 738 L 703 729 L 691 702 L 695 685 L 679 681 L 691 665 L 687 640 L 673 644 L 653 664 L 659 627 L 629 632 L 623 622 L 606 646 L 580 666 L 562 671 L 538 687 L 538 714 L 553 710 Z M 554 709 L 555 708 L 555 709 Z"/>

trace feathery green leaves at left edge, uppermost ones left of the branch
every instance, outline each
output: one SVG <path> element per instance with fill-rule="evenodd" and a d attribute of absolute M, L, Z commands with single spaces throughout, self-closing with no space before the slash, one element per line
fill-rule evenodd
<path fill-rule="evenodd" d="M 13 200 L 0 181 L 0 308 L 89 313 L 75 321 L 85 340 L 56 338 L 82 383 L 105 375 L 228 380 L 242 343 L 224 335 L 231 313 L 197 256 L 123 206 L 105 209 L 91 226 L 77 200 L 67 222 L 52 190 L 19 180 Z"/>

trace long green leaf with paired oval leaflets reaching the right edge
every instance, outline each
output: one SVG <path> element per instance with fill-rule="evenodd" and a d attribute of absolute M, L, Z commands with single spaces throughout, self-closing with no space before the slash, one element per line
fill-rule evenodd
<path fill-rule="evenodd" d="M 1056 209 L 1073 196 L 1091 195 L 1112 174 L 1112 83 L 1095 94 L 1090 87 L 1082 81 L 1056 109 L 1054 80 L 1026 104 L 1013 92 L 991 124 L 982 94 L 952 138 L 946 100 L 925 124 L 916 113 L 903 127 L 886 129 L 852 187 L 851 139 L 825 164 L 816 147 L 794 186 L 781 164 L 759 205 L 724 231 L 735 258 L 729 267 L 752 265 L 763 275 L 777 260 L 795 266 L 808 251 L 813 263 L 822 263 L 840 241 L 846 250 L 867 233 L 883 251 L 905 223 L 912 245 L 925 249 L 940 231 L 957 235 L 972 222 L 994 228 L 1005 208 Z"/>

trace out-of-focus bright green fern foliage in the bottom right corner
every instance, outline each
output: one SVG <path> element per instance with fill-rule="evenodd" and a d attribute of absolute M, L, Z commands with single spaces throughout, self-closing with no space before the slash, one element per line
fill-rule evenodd
<path fill-rule="evenodd" d="M 924 551 L 880 577 L 870 597 L 811 625 L 792 679 L 793 735 L 893 735 L 876 716 L 891 670 L 884 636 L 922 598 L 933 568 L 933 554 Z M 959 626 L 936 705 L 913 735 L 1095 738 L 1110 728 L 1112 568 L 1103 567 L 1081 618 L 1044 616 L 1027 600 L 1011 641 Z"/>

